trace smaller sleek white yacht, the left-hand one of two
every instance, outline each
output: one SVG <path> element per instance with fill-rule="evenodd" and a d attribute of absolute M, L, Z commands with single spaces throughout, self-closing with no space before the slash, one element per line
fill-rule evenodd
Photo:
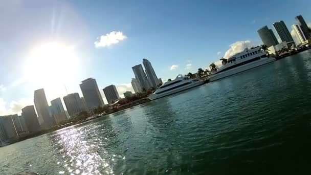
<path fill-rule="evenodd" d="M 178 75 L 174 80 L 167 81 L 161 85 L 160 88 L 151 94 L 148 98 L 150 100 L 156 100 L 158 98 L 188 90 L 202 84 L 204 84 L 203 80 L 190 79 L 182 75 Z"/>

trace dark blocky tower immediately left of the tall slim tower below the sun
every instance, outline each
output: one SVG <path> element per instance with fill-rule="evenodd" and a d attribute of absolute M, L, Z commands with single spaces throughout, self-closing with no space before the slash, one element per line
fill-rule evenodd
<path fill-rule="evenodd" d="M 38 117 L 33 105 L 24 107 L 23 109 L 21 109 L 21 112 L 30 133 L 38 132 L 41 130 Z"/>

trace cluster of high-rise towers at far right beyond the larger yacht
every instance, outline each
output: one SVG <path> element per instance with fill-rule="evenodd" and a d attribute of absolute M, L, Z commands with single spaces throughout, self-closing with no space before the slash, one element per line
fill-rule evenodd
<path fill-rule="evenodd" d="M 296 16 L 295 19 L 297 24 L 292 25 L 292 29 L 298 39 L 297 45 L 305 44 L 311 39 L 310 30 L 301 15 Z M 262 43 L 269 47 L 268 49 L 270 50 L 270 53 L 275 53 L 283 48 L 287 49 L 295 46 L 295 41 L 291 35 L 291 32 L 288 31 L 284 21 L 281 20 L 273 23 L 273 27 L 276 30 L 281 42 L 277 40 L 273 31 L 269 29 L 268 26 L 264 26 L 257 31 Z"/>

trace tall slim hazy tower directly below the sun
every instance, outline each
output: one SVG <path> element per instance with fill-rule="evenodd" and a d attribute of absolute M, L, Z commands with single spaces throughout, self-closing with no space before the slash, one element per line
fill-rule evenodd
<path fill-rule="evenodd" d="M 56 121 L 54 117 L 50 114 L 48 101 L 46 98 L 45 90 L 39 89 L 36 90 L 34 93 L 34 103 L 36 106 L 36 111 L 38 117 L 43 120 L 43 125 L 41 124 L 42 128 L 48 128 L 54 126 Z M 40 121 L 40 120 L 39 120 Z"/>

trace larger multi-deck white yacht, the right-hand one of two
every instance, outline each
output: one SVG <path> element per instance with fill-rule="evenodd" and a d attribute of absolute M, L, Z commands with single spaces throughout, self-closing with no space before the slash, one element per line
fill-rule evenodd
<path fill-rule="evenodd" d="M 252 49 L 246 48 L 241 53 L 228 58 L 227 61 L 223 61 L 223 65 L 216 72 L 212 73 L 208 79 L 210 81 L 219 80 L 275 60 L 274 57 L 268 57 L 266 51 L 263 51 L 259 46 Z"/>

